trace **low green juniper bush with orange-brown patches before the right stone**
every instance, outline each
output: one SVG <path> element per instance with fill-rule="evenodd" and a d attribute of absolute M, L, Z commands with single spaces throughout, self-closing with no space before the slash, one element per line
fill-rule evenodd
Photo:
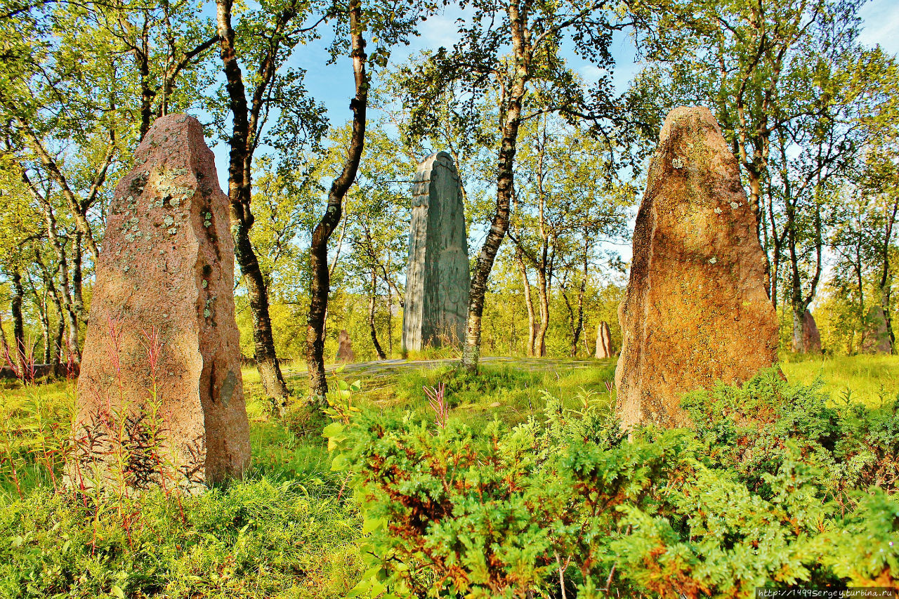
<path fill-rule="evenodd" d="M 362 410 L 325 429 L 363 506 L 353 595 L 749 596 L 899 588 L 899 401 L 768 371 L 628 436 L 607 401 L 509 428 Z"/>

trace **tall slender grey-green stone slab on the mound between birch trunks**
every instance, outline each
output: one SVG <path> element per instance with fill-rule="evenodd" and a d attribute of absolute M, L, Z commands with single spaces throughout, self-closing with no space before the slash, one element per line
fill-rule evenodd
<path fill-rule="evenodd" d="M 405 274 L 405 350 L 461 344 L 469 284 L 458 172 L 452 157 L 438 152 L 425 158 L 415 173 Z"/>

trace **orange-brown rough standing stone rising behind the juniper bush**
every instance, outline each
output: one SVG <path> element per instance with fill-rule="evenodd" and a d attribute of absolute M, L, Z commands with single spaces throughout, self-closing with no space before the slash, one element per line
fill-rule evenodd
<path fill-rule="evenodd" d="M 778 323 L 755 222 L 711 112 L 674 109 L 649 166 L 619 306 L 623 426 L 687 425 L 685 392 L 742 382 L 775 363 Z"/>

